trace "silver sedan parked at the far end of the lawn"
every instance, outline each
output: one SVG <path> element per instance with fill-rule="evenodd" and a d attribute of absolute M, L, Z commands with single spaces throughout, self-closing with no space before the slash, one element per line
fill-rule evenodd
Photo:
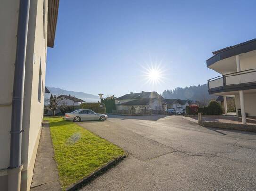
<path fill-rule="evenodd" d="M 68 121 L 89 121 L 89 120 L 100 120 L 105 121 L 107 119 L 106 114 L 97 114 L 90 109 L 79 109 L 70 113 L 66 113 L 64 116 L 65 120 Z"/>

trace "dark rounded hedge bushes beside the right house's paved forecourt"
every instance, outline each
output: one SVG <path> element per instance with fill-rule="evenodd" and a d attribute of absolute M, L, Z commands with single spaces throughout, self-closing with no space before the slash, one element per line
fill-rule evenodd
<path fill-rule="evenodd" d="M 220 115 L 223 113 L 221 105 L 216 101 L 210 101 L 206 107 L 196 107 L 193 105 L 186 107 L 187 115 L 197 115 L 198 112 L 204 115 Z"/>

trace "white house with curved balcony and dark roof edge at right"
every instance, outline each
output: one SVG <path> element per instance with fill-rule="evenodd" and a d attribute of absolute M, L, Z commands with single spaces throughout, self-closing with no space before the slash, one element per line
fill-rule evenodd
<path fill-rule="evenodd" d="M 246 124 L 246 114 L 256 116 L 256 39 L 212 53 L 206 61 L 207 67 L 221 76 L 208 80 L 208 92 L 223 96 L 225 113 L 226 97 L 234 97 L 236 108 L 241 110 L 242 123 Z"/>

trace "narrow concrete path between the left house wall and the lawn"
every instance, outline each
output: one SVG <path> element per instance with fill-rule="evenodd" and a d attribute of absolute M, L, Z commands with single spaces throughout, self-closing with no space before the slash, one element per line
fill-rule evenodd
<path fill-rule="evenodd" d="M 39 141 L 31 191 L 61 191 L 58 170 L 55 163 L 50 128 L 44 122 Z"/>

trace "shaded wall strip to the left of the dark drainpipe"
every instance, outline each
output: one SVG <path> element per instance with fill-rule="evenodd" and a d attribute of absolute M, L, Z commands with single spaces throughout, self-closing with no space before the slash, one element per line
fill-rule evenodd
<path fill-rule="evenodd" d="M 7 189 L 19 0 L 0 3 L 0 190 Z M 5 105 L 5 106 L 4 106 Z"/>

